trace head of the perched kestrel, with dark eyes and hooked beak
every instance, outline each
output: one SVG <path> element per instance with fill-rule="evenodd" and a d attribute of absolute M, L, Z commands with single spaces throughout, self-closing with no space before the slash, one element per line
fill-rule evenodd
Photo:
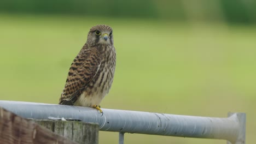
<path fill-rule="evenodd" d="M 90 29 L 87 42 L 89 45 L 113 45 L 113 31 L 107 25 L 98 25 Z"/>

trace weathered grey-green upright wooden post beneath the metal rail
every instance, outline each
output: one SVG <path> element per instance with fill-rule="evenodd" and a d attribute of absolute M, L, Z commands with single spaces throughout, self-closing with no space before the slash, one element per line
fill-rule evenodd
<path fill-rule="evenodd" d="M 76 121 L 36 120 L 34 122 L 80 144 L 98 143 L 98 124 Z"/>

